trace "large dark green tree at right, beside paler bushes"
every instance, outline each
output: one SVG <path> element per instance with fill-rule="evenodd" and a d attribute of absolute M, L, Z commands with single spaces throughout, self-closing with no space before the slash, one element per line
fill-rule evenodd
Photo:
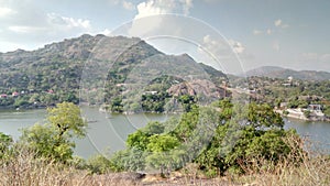
<path fill-rule="evenodd" d="M 220 106 L 221 110 L 230 108 L 226 102 Z M 228 113 L 233 111 L 227 110 Z M 283 129 L 283 119 L 271 106 L 251 102 L 246 113 L 243 112 L 242 116 L 245 117 L 239 121 L 232 118 L 228 120 L 229 116 L 221 117 L 226 119 L 224 124 L 218 125 L 209 146 L 196 160 L 209 176 L 227 171 L 242 173 L 243 166 L 249 165 L 253 158 L 272 161 L 276 164 L 280 157 L 299 150 L 290 149 L 285 143 L 284 138 L 297 134 Z"/>

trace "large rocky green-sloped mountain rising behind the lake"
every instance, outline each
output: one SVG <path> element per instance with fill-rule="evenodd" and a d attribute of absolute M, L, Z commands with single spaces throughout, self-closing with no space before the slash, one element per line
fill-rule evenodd
<path fill-rule="evenodd" d="M 220 85 L 227 76 L 187 54 L 166 55 L 138 37 L 84 34 L 35 51 L 0 53 L 0 107 L 103 100 L 122 106 L 136 96 L 136 86 L 170 97 L 172 86 L 196 79 L 207 88 L 206 80 Z"/>

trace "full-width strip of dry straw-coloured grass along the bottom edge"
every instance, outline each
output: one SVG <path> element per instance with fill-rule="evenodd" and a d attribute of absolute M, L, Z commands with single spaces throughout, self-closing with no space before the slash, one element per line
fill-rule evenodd
<path fill-rule="evenodd" d="M 296 139 L 288 139 L 292 146 L 300 144 Z M 172 173 L 167 178 L 158 175 L 142 177 L 134 173 L 109 173 L 94 175 L 53 162 L 35 160 L 33 153 L 21 151 L 14 158 L 1 164 L 0 185 L 3 186 L 107 186 L 107 185 L 330 185 L 330 156 L 323 153 L 297 151 L 279 164 L 253 158 L 244 166 L 245 175 L 227 175 L 213 179 L 206 178 L 195 164 L 189 164 L 180 172 Z M 329 154 L 329 153 L 328 153 Z M 293 160 L 300 160 L 294 163 Z"/>

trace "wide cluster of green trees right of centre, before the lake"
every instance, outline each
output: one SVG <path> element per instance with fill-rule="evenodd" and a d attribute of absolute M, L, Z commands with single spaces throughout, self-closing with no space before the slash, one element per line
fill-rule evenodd
<path fill-rule="evenodd" d="M 209 176 L 215 176 L 230 171 L 242 173 L 245 166 L 242 162 L 255 157 L 276 164 L 293 151 L 300 150 L 285 143 L 285 138 L 298 136 L 295 131 L 283 129 L 280 116 L 271 106 L 233 105 L 230 99 L 220 100 L 216 106 L 218 111 L 190 106 L 180 120 L 151 122 L 139 129 L 129 135 L 128 149 L 114 154 L 113 166 L 128 171 L 155 168 L 164 173 L 193 161 Z M 216 123 L 215 131 L 208 125 L 212 122 Z M 200 130 L 199 123 L 210 132 Z M 166 130 L 167 125 L 172 127 L 170 131 Z M 210 133 L 209 141 L 202 143 Z M 191 158 L 198 147 L 200 153 Z"/>

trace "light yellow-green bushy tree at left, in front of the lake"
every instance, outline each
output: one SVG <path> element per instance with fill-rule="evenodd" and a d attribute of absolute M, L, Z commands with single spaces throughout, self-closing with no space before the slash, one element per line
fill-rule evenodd
<path fill-rule="evenodd" d="M 23 129 L 21 143 L 36 152 L 37 157 L 66 163 L 73 158 L 73 138 L 86 135 L 87 122 L 77 106 L 70 102 L 57 103 L 47 109 L 45 124 L 34 124 Z"/>

